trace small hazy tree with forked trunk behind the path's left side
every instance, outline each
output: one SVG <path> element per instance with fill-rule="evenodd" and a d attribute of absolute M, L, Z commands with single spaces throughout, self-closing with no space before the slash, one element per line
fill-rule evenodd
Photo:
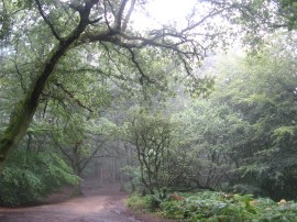
<path fill-rule="evenodd" d="M 74 174 L 82 177 L 86 167 L 96 156 L 105 157 L 110 129 L 114 126 L 106 119 L 84 120 L 81 113 L 61 115 L 51 127 L 54 146 L 69 164 Z M 56 152 L 57 152 L 56 151 Z M 81 195 L 80 182 L 74 187 L 73 196 Z"/>

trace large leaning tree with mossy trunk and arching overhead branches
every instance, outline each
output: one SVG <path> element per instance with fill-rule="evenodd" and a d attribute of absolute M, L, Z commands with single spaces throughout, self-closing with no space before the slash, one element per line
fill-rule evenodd
<path fill-rule="evenodd" d="M 150 48 L 156 54 L 166 53 L 195 82 L 199 82 L 193 75 L 191 65 L 205 55 L 204 38 L 213 40 L 215 35 L 200 35 L 196 27 L 219 11 L 212 10 L 196 22 L 189 18 L 188 25 L 182 30 L 170 26 L 141 34 L 133 31 L 129 22 L 134 8 L 145 3 L 135 0 L 1 1 L 1 20 L 8 21 L 1 26 L 1 42 L 6 38 L 1 47 L 9 52 L 2 55 L 2 63 L 12 75 L 19 76 L 23 92 L 14 100 L 12 111 L 6 113 L 9 121 L 0 136 L 0 170 L 24 136 L 38 104 L 48 97 L 44 95 L 45 90 L 61 75 L 59 68 L 70 60 L 86 62 L 86 66 L 78 69 L 68 67 L 72 73 L 95 71 L 101 77 L 121 80 L 133 76 L 140 85 L 154 85 L 157 80 L 147 76 L 139 62 L 140 52 Z M 199 38 L 195 38 L 196 34 Z M 90 47 L 96 51 L 84 54 Z M 113 55 L 119 59 L 113 59 Z M 109 60 L 113 66 L 106 62 L 107 69 L 101 69 L 97 59 Z M 128 67 L 125 73 L 121 67 Z"/>

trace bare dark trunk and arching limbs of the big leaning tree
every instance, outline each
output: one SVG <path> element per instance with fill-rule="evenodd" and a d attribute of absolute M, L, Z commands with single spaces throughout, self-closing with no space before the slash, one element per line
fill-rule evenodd
<path fill-rule="evenodd" d="M 191 60 L 202 57 L 201 52 L 204 52 L 204 47 L 201 47 L 201 45 L 199 45 L 199 43 L 194 40 L 194 35 L 193 38 L 187 35 L 189 31 L 196 29 L 197 25 L 202 23 L 205 20 L 201 20 L 191 26 L 189 24 L 188 27 L 182 32 L 177 32 L 173 29 L 162 29 L 155 33 L 151 33 L 152 35 L 148 34 L 146 36 L 142 36 L 138 34 L 129 34 L 125 32 L 136 0 L 130 0 L 131 4 L 129 4 L 130 8 L 128 11 L 127 8 L 129 0 L 101 0 L 100 3 L 102 3 L 105 7 L 103 12 L 101 12 L 102 14 L 99 15 L 99 19 L 94 21 L 90 20 L 91 10 L 95 4 L 99 3 L 99 0 L 72 0 L 72 3 L 68 7 L 70 7 L 75 12 L 79 13 L 79 21 L 78 23 L 75 23 L 75 29 L 72 31 L 69 30 L 69 34 L 67 36 L 62 37 L 59 33 L 57 33 L 53 23 L 46 16 L 45 11 L 42 8 L 41 0 L 34 1 L 42 19 L 50 26 L 53 35 L 56 40 L 58 40 L 58 42 L 55 41 L 45 62 L 41 67 L 38 67 L 38 69 L 36 69 L 35 80 L 32 81 L 30 86 L 28 86 L 29 90 L 26 96 L 15 106 L 14 110 L 11 112 L 8 127 L 0 135 L 0 173 L 3 169 L 4 160 L 24 136 L 42 99 L 42 95 L 44 93 L 44 88 L 48 82 L 48 79 L 57 68 L 59 60 L 63 58 L 63 56 L 66 55 L 69 48 L 86 43 L 99 43 L 101 45 L 108 43 L 112 45 L 113 48 L 123 48 L 128 52 L 128 57 L 135 66 L 135 69 L 138 69 L 138 71 L 141 74 L 142 80 L 150 79 L 147 79 L 144 69 L 138 62 L 138 55 L 135 52 L 138 52 L 139 48 L 156 47 L 161 49 L 167 49 L 175 57 L 179 56 L 182 64 L 184 64 L 185 69 L 189 75 L 193 71 L 190 68 Z M 118 4 L 118 7 L 113 4 Z M 206 19 L 213 16 L 216 13 L 219 12 L 213 11 Z M 110 19 L 110 15 L 114 18 L 114 21 L 113 19 Z M 97 30 L 87 29 L 88 25 L 97 23 L 101 19 L 105 19 L 105 27 L 101 25 L 100 29 Z M 112 22 L 113 24 L 110 25 Z M 70 91 L 63 88 L 62 85 L 58 87 L 75 100 Z M 76 102 L 80 107 L 91 111 L 80 101 Z"/>

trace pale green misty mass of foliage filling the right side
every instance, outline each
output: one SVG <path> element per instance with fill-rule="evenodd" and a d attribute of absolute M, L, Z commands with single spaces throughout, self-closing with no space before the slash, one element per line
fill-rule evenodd
<path fill-rule="evenodd" d="M 228 182 L 227 190 L 276 200 L 297 197 L 296 54 L 276 38 L 248 58 L 223 57 L 215 65 L 216 91 L 176 115 L 199 151 L 195 170 L 205 185 Z"/>

